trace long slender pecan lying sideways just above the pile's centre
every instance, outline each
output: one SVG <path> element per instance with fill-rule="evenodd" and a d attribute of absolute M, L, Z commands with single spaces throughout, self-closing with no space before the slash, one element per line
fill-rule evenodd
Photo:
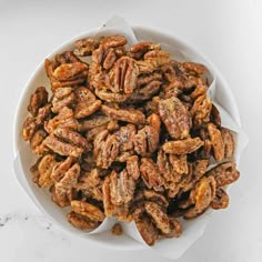
<path fill-rule="evenodd" d="M 102 104 L 101 111 L 112 119 L 130 122 L 134 124 L 142 124 L 145 121 L 144 114 L 135 109 L 113 109 Z"/>

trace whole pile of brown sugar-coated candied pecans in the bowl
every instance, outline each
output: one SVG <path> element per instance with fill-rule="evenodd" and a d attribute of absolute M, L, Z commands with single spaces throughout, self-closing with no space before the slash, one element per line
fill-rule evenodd
<path fill-rule="evenodd" d="M 33 181 L 71 206 L 72 225 L 134 220 L 152 245 L 182 233 L 177 218 L 226 208 L 223 187 L 239 171 L 205 67 L 178 62 L 158 43 L 125 44 L 122 36 L 87 38 L 47 59 L 51 98 L 36 90 L 22 133 L 39 155 Z M 206 171 L 211 159 L 218 165 Z"/>

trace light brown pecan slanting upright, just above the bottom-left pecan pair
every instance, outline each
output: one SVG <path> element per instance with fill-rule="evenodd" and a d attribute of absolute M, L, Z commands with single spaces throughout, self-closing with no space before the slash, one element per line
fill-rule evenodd
<path fill-rule="evenodd" d="M 77 185 L 78 177 L 80 174 L 79 163 L 74 163 L 63 175 L 63 178 L 54 184 L 52 193 L 52 201 L 59 206 L 63 208 L 70 204 L 70 194 L 72 189 Z"/>

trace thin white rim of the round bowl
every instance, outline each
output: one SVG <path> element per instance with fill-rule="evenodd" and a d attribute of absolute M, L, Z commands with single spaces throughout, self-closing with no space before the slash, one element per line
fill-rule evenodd
<path fill-rule="evenodd" d="M 168 30 L 168 29 L 163 29 L 163 28 L 159 28 L 159 27 L 154 27 L 154 28 L 151 28 L 151 27 L 143 27 L 143 26 L 132 26 L 131 24 L 131 28 L 133 29 L 134 31 L 134 34 L 137 31 L 147 31 L 147 32 L 152 32 L 153 34 L 160 34 L 161 37 L 163 38 L 170 38 L 172 40 L 174 40 L 175 42 L 178 42 L 179 44 L 182 44 L 184 46 L 185 48 L 192 50 L 193 52 L 195 52 L 199 57 L 201 57 L 213 70 L 216 79 L 220 80 L 221 82 L 221 85 L 224 87 L 224 89 L 226 89 L 226 95 L 229 95 L 229 99 L 231 101 L 231 107 L 232 107 L 232 112 L 230 112 L 230 114 L 233 114 L 233 119 L 235 120 L 235 122 L 241 127 L 241 120 L 240 120 L 240 114 L 239 114 L 239 110 L 238 110 L 238 105 L 236 105 L 236 102 L 235 102 L 235 99 L 234 99 L 234 95 L 228 84 L 228 82 L 225 81 L 224 77 L 221 74 L 221 72 L 219 71 L 219 69 L 216 68 L 216 66 L 214 66 L 210 59 L 203 54 L 201 51 L 196 50 L 193 46 L 189 44 L 187 41 L 184 41 L 182 39 L 181 36 L 178 36 L 177 33 L 172 32 L 171 30 Z M 46 58 L 51 58 L 53 57 L 56 53 L 58 53 L 61 49 L 63 49 L 64 47 L 67 47 L 68 44 L 74 42 L 75 40 L 78 39 L 81 39 L 81 38 L 84 38 L 84 37 L 89 37 L 89 36 L 92 36 L 94 33 L 98 32 L 98 30 L 100 29 L 100 27 L 97 27 L 97 28 L 93 28 L 93 29 L 90 29 L 90 30 L 87 30 L 87 31 L 82 31 L 78 34 L 74 34 L 72 36 L 71 38 L 69 39 L 66 39 L 61 44 L 59 44 L 57 48 L 54 48 L 48 56 L 46 56 Z M 43 58 L 44 60 L 44 58 Z M 23 101 L 26 100 L 27 98 L 27 91 L 28 89 L 30 88 L 31 85 L 31 82 L 33 81 L 33 79 L 36 78 L 36 75 L 39 73 L 39 71 L 42 69 L 43 67 L 43 60 L 36 67 L 36 69 L 33 70 L 33 72 L 29 75 L 27 82 L 24 83 L 23 85 L 23 89 L 20 93 L 20 97 L 19 97 L 19 100 L 18 100 L 18 105 L 17 105 L 17 109 L 16 109 L 16 114 L 14 114 L 14 121 L 13 121 L 13 138 L 12 138 L 12 141 L 13 141 L 13 155 L 14 155 L 14 159 L 17 158 L 17 153 L 18 153 L 18 150 L 19 150 L 19 141 L 21 140 L 20 138 L 20 130 L 19 130 L 19 123 L 20 123 L 20 119 L 19 119 L 19 112 L 23 109 Z M 22 171 L 22 174 L 23 177 L 26 178 L 26 174 L 24 172 Z M 19 183 L 21 185 L 21 183 Z M 21 185 L 22 187 L 22 185 Z M 23 187 L 22 187 L 23 188 Z M 33 192 L 31 191 L 30 189 L 30 185 L 27 183 L 27 188 L 30 192 L 27 192 L 27 190 L 24 189 L 26 193 L 29 194 L 30 199 L 32 200 L 31 194 L 33 194 Z M 34 201 L 33 201 L 34 202 Z M 39 202 L 39 201 L 38 201 Z M 34 203 L 36 204 L 36 203 Z M 36 204 L 37 205 L 37 204 Z M 41 203 L 40 203 L 41 205 Z M 75 235 L 73 234 L 72 232 L 69 232 L 67 229 L 64 229 L 63 226 L 61 226 L 60 224 L 57 223 L 56 220 L 52 219 L 52 216 L 50 214 L 48 214 L 44 209 L 41 209 L 40 206 L 37 205 L 38 209 L 41 210 L 41 212 L 43 212 L 44 215 L 47 215 L 48 219 L 50 219 L 54 224 L 57 224 L 59 226 L 59 229 L 61 229 L 62 231 L 71 234 L 71 235 Z M 80 238 L 84 238 L 84 234 L 78 234 Z M 88 241 L 91 241 L 93 243 L 98 243 L 100 244 L 101 246 L 104 246 L 107 249 L 114 249 L 114 250 L 142 250 L 144 249 L 145 246 L 142 245 L 141 243 L 132 240 L 132 244 L 128 244 L 128 245 L 115 245 L 115 246 L 112 246 L 112 245 L 108 245 L 105 244 L 104 242 L 101 242 L 99 241 L 98 239 L 95 239 L 94 235 L 89 235 L 90 238 L 84 238 L 85 240 Z M 201 235 L 200 235 L 201 236 Z M 200 238 L 199 236 L 199 238 Z M 198 239 L 199 239 L 198 238 Z M 198 239 L 195 241 L 198 241 Z"/>

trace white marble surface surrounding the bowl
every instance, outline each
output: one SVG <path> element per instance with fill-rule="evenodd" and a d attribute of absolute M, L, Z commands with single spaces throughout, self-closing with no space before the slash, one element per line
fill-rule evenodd
<path fill-rule="evenodd" d="M 262 70 L 258 63 L 262 38 L 254 36 L 261 30 L 261 6 L 251 0 L 0 0 L 0 261 L 160 260 L 147 250 L 101 249 L 61 232 L 26 195 L 12 169 L 14 111 L 30 73 L 61 42 L 112 14 L 131 24 L 172 30 L 204 52 L 230 83 L 250 137 L 240 164 L 242 177 L 230 190 L 230 208 L 213 215 L 204 235 L 178 261 L 262 261 Z"/>

